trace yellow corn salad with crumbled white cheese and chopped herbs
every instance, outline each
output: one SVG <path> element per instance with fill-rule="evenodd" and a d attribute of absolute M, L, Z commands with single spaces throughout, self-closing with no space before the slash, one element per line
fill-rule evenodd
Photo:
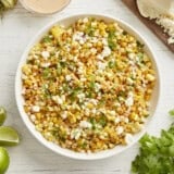
<path fill-rule="evenodd" d="M 77 152 L 127 145 L 149 115 L 154 84 L 144 45 L 94 17 L 53 26 L 22 67 L 24 110 L 36 129 Z"/>

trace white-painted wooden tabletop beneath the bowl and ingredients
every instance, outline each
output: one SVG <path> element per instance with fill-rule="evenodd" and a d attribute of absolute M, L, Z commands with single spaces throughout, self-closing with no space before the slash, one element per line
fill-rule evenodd
<path fill-rule="evenodd" d="M 121 2 L 121 0 L 72 0 L 61 13 L 50 16 L 30 14 L 21 4 L 0 21 L 0 104 L 8 109 L 7 125 L 22 136 L 20 146 L 8 148 L 11 164 L 8 174 L 128 174 L 130 161 L 137 154 L 135 145 L 125 152 L 100 161 L 76 161 L 54 154 L 42 147 L 26 129 L 14 98 L 14 76 L 23 50 L 30 38 L 47 23 L 70 14 L 96 12 L 122 18 L 138 29 L 156 53 L 161 76 L 161 97 L 148 132 L 158 135 L 171 120 L 167 111 L 174 108 L 174 54 L 156 38 Z"/>

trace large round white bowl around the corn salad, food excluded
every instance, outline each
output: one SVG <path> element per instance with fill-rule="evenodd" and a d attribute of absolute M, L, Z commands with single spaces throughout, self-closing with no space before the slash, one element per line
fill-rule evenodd
<path fill-rule="evenodd" d="M 30 48 L 38 42 L 41 37 L 50 29 L 50 27 L 52 27 L 55 24 L 63 24 L 64 26 L 69 26 L 70 24 L 74 23 L 77 18 L 80 17 L 85 17 L 85 16 L 92 16 L 99 20 L 104 20 L 105 22 L 117 22 L 127 33 L 132 34 L 133 36 L 135 36 L 139 41 L 141 41 L 145 45 L 145 51 L 149 54 L 149 57 L 151 58 L 152 62 L 153 62 L 153 67 L 156 70 L 156 76 L 157 76 L 157 82 L 156 82 L 156 87 L 153 89 L 153 94 L 152 94 L 152 98 L 150 101 L 150 116 L 147 119 L 147 122 L 142 128 L 142 130 L 138 134 L 136 134 L 135 136 L 133 136 L 133 140 L 130 144 L 128 144 L 127 146 L 116 146 L 113 149 L 110 150 L 105 150 L 105 151 L 101 151 L 101 152 L 97 152 L 97 153 L 79 153 L 79 152 L 74 152 L 72 150 L 69 149 L 63 149 L 58 145 L 54 145 L 53 142 L 50 142 L 48 140 L 46 140 L 41 134 L 39 132 L 37 132 L 35 129 L 34 124 L 29 121 L 27 114 L 25 113 L 24 109 L 23 109 L 23 103 L 24 103 L 24 99 L 21 95 L 22 92 L 22 80 L 21 80 L 21 67 L 22 65 L 26 62 L 28 52 L 30 50 Z M 47 148 L 51 149 L 52 151 L 69 157 L 69 158 L 73 158 L 73 159 L 78 159 L 78 160 L 97 160 L 97 159 L 104 159 L 108 157 L 111 157 L 113 154 L 117 154 L 124 150 L 126 150 L 127 148 L 129 148 L 132 145 L 134 145 L 135 142 L 137 142 L 139 140 L 139 138 L 145 134 L 147 126 L 150 122 L 150 120 L 152 119 L 152 115 L 154 114 L 157 104 L 158 104 L 158 100 L 159 100 L 159 94 L 160 94 L 160 80 L 159 80 L 159 71 L 157 67 L 157 62 L 156 62 L 156 58 L 151 51 L 150 46 L 148 45 L 148 42 L 145 40 L 145 38 L 142 38 L 142 36 L 135 30 L 132 26 L 129 26 L 128 24 L 126 24 L 125 22 L 117 20 L 115 17 L 109 16 L 109 15 L 100 15 L 100 14 L 78 14 L 78 15 L 73 15 L 73 16 L 69 16 L 69 17 L 63 17 L 63 18 L 59 18 L 57 21 L 54 21 L 51 24 L 48 24 L 46 27 L 44 27 L 30 41 L 30 44 L 27 46 L 27 48 L 25 49 L 22 59 L 20 61 L 18 64 L 18 69 L 16 72 L 16 77 L 15 77 L 15 98 L 16 98 L 16 103 L 20 110 L 20 114 L 22 120 L 24 121 L 26 127 L 29 129 L 29 132 L 34 135 L 34 137 L 41 142 L 44 146 L 46 146 Z"/>

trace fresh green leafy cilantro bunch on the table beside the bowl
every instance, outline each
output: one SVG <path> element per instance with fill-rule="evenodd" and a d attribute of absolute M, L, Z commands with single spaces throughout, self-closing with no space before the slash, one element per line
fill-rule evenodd
<path fill-rule="evenodd" d="M 174 174 L 174 124 L 161 130 L 160 137 L 146 134 L 139 144 L 139 154 L 132 162 L 133 174 Z"/>

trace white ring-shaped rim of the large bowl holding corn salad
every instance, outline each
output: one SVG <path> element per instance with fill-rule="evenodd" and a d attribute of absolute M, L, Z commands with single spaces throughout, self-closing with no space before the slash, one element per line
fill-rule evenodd
<path fill-rule="evenodd" d="M 27 59 L 27 54 L 30 50 L 30 48 L 37 42 L 37 40 L 39 40 L 38 38 L 41 38 L 44 36 L 44 34 L 46 34 L 53 25 L 59 24 L 59 23 L 63 23 L 63 21 L 66 20 L 71 20 L 74 18 L 74 21 L 76 21 L 77 18 L 80 17 L 97 17 L 97 18 L 103 18 L 105 21 L 114 21 L 117 22 L 122 27 L 126 27 L 127 33 L 130 33 L 134 37 L 136 37 L 138 40 L 140 39 L 140 41 L 142 41 L 145 44 L 145 47 L 148 49 L 148 54 L 151 55 L 151 61 L 153 63 L 153 66 L 156 69 L 156 76 L 157 76 L 157 82 L 156 82 L 156 86 L 158 88 L 158 94 L 156 95 L 156 104 L 154 104 L 154 109 L 152 114 L 148 117 L 148 124 L 144 125 L 144 128 L 140 130 L 140 133 L 137 134 L 138 138 L 136 138 L 135 140 L 133 140 L 129 145 L 122 147 L 120 150 L 115 150 L 117 148 L 117 146 L 113 149 L 109 149 L 109 150 L 103 150 L 101 152 L 96 152 L 96 153 L 79 153 L 79 152 L 74 152 L 73 150 L 69 150 L 69 149 L 64 149 L 61 148 L 58 145 L 52 145 L 52 142 L 46 140 L 41 134 L 39 132 L 37 132 L 36 129 L 32 128 L 30 124 L 33 124 L 28 116 L 26 115 L 26 113 L 24 112 L 23 109 L 23 104 L 22 104 L 22 95 L 21 95 L 21 90 L 18 89 L 18 85 L 21 82 L 21 67 L 23 65 L 23 63 L 26 61 Z M 74 23 L 74 21 L 72 23 Z M 146 51 L 147 52 L 147 51 Z M 71 158 L 71 159 L 75 159 L 75 160 L 100 160 L 100 159 L 105 159 L 115 154 L 119 154 L 123 151 L 125 151 L 126 149 L 130 148 L 133 145 L 135 145 L 141 137 L 142 135 L 146 133 L 151 119 L 154 117 L 156 111 L 158 109 L 159 105 L 159 99 L 160 99 L 160 90 L 161 90 L 161 83 L 160 83 L 160 72 L 159 72 L 159 65 L 156 59 L 156 55 L 153 53 L 153 51 L 151 50 L 150 45 L 148 44 L 148 41 L 144 38 L 144 36 L 137 32 L 133 26 L 130 26 L 129 24 L 127 24 L 126 22 L 124 22 L 123 20 L 120 20 L 115 16 L 109 15 L 109 14 L 101 14 L 101 13 L 77 13 L 74 15 L 67 15 L 67 16 L 63 16 L 63 17 L 59 17 L 57 20 L 53 20 L 52 22 L 50 22 L 49 24 L 47 24 L 45 27 L 42 27 L 41 29 L 39 29 L 38 33 L 35 34 L 35 36 L 32 38 L 32 40 L 29 41 L 29 44 L 27 45 L 27 47 L 25 48 L 25 50 L 23 51 L 23 54 L 20 59 L 18 65 L 17 65 L 17 70 L 16 70 L 16 75 L 15 75 L 15 86 L 14 86 L 14 90 L 15 90 L 15 100 L 16 100 L 16 105 L 17 105 L 17 110 L 20 112 L 20 115 L 25 124 L 25 126 L 27 127 L 27 129 L 30 132 L 30 134 L 45 147 L 47 147 L 48 149 L 50 149 L 51 151 Z M 154 89 L 153 89 L 154 90 Z M 27 117 L 26 117 L 27 116 Z M 28 123 L 28 121 L 30 123 Z M 34 124 L 33 124 L 34 125 Z M 135 137 L 135 136 L 134 136 Z M 57 148 L 55 148 L 57 146 Z M 59 149 L 58 149 L 59 148 Z"/>

